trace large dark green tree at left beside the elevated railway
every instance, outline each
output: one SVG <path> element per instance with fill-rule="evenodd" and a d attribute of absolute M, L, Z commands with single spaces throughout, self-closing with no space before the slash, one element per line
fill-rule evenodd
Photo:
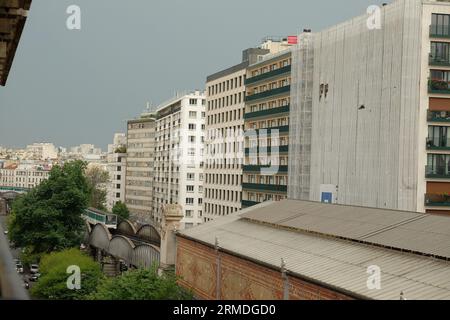
<path fill-rule="evenodd" d="M 79 246 L 90 195 L 85 166 L 81 161 L 55 166 L 48 180 L 14 201 L 8 229 L 16 247 L 32 255 Z"/>

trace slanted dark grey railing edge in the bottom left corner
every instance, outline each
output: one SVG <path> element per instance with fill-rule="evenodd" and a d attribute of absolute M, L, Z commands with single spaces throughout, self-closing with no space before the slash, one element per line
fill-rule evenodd
<path fill-rule="evenodd" d="M 8 241 L 0 226 L 0 299 L 28 300 L 28 294 L 23 287 L 13 263 Z"/>

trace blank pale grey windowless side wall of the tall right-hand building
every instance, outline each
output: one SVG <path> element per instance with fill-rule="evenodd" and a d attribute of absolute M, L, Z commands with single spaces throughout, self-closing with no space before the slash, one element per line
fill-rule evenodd
<path fill-rule="evenodd" d="M 361 16 L 314 34 L 310 200 L 333 185 L 337 203 L 416 210 L 421 10 L 398 0 L 381 29 Z"/>

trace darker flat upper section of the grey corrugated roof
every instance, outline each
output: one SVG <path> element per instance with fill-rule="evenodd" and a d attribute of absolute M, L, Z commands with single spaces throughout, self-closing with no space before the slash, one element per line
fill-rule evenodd
<path fill-rule="evenodd" d="M 286 200 L 241 215 L 279 227 L 450 259 L 450 217 Z"/>

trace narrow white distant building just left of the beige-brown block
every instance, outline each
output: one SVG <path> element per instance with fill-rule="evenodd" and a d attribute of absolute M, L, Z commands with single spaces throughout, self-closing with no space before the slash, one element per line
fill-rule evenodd
<path fill-rule="evenodd" d="M 106 208 L 112 210 L 117 202 L 125 203 L 126 135 L 116 133 L 113 144 L 108 145 L 107 168 L 109 173 Z"/>

